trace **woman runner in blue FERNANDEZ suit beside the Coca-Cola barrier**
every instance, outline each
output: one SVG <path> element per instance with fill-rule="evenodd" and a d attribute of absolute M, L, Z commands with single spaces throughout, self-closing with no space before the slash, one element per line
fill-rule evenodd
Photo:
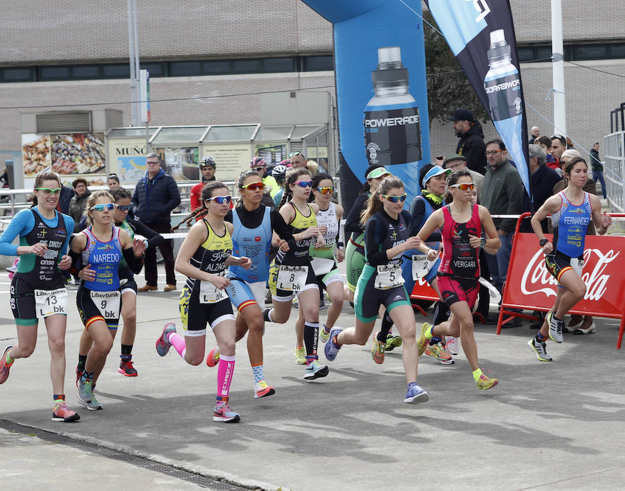
<path fill-rule="evenodd" d="M 597 233 L 603 235 L 612 224 L 612 217 L 603 212 L 601 201 L 583 190 L 588 178 L 588 166 L 581 157 L 572 158 L 563 167 L 568 179 L 565 190 L 547 199 L 531 219 L 534 233 L 544 252 L 544 264 L 558 281 L 556 302 L 544 318 L 540 331 L 528 345 L 540 361 L 551 361 L 547 354 L 547 336 L 562 342 L 564 316 L 583 299 L 586 285 L 581 279 L 586 229 L 592 220 Z M 579 204 L 576 204 L 579 203 Z M 553 240 L 544 238 L 540 221 L 551 214 Z"/>

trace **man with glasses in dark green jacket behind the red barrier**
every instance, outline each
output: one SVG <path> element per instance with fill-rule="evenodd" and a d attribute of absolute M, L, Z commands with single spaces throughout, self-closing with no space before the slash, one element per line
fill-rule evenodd
<path fill-rule="evenodd" d="M 478 195 L 480 203 L 491 215 L 520 215 L 523 210 L 524 187 L 519 172 L 508 162 L 506 145 L 501 140 L 490 140 L 486 144 L 485 157 L 488 165 L 481 194 Z M 493 217 L 493 222 L 497 227 L 501 247 L 494 256 L 486 254 L 486 260 L 495 288 L 503 294 L 517 219 Z M 521 322 L 518 318 L 503 324 L 505 327 L 519 325 Z"/>

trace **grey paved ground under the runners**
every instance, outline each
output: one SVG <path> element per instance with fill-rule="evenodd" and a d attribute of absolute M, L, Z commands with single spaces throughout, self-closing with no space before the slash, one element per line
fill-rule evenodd
<path fill-rule="evenodd" d="M 0 317 L 1 347 L 15 341 L 8 303 L 8 281 L 2 278 L 0 305 L 6 308 Z M 376 365 L 370 343 L 345 347 L 329 363 L 328 377 L 303 381 L 303 367 L 294 365 L 292 355 L 294 310 L 288 324 L 267 324 L 265 374 L 276 394 L 253 399 L 247 351 L 245 344 L 238 345 L 231 406 L 242 422 L 219 424 L 211 418 L 216 369 L 185 365 L 173 349 L 160 358 L 154 349 L 163 322 L 177 320 L 177 306 L 175 292 L 140 294 L 134 350 L 140 376 L 117 373 L 117 340 L 98 383 L 104 410 L 83 408 L 76 424 L 50 420 L 49 352 L 40 327 L 33 357 L 17 361 L 0 388 L 0 428 L 17 422 L 94 446 L 70 448 L 63 440 L 52 447 L 27 435 L 35 430 L 0 431 L 0 475 L 13 489 L 49 489 L 51 483 L 63 482 L 71 490 L 84 488 L 85 479 L 99 489 L 119 489 L 129 482 L 140 490 L 198 486 L 107 458 L 94 448 L 126 452 L 128 461 L 147 456 L 172 469 L 251 488 L 623 488 L 625 353 L 615 350 L 616 321 L 597 319 L 596 334 L 567 335 L 563 344 L 549 343 L 553 363 L 539 363 L 527 347 L 533 333 L 527 322 L 500 336 L 492 326 L 478 327 L 481 366 L 499 378 L 497 388 L 477 390 L 462 354 L 451 366 L 425 358 L 419 382 L 431 392 L 431 400 L 408 406 L 403 403 L 401 348 Z M 352 314 L 347 306 L 339 325 L 349 326 Z M 321 315 L 323 319 L 325 310 Z M 423 320 L 417 318 L 419 324 Z M 73 378 L 80 333 L 78 315 L 70 309 L 65 391 L 74 409 L 80 407 Z M 95 476 L 106 479 L 94 483 L 94 469 Z M 215 489 L 231 487 L 218 484 Z"/>

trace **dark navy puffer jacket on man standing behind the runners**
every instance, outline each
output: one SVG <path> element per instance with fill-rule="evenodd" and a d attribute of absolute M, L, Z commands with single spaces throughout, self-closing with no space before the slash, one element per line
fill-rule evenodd
<path fill-rule="evenodd" d="M 171 222 L 169 214 L 180 204 L 178 185 L 172 176 L 160 169 L 153 179 L 140 179 L 133 193 L 132 205 L 135 218 L 144 224 Z"/>

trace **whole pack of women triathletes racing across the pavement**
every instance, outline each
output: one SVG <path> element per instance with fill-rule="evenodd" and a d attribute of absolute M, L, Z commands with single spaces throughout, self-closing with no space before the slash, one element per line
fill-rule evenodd
<path fill-rule="evenodd" d="M 559 284 L 554 307 L 529 342 L 542 361 L 551 360 L 547 337 L 562 342 L 563 317 L 585 292 L 576 267 L 583 255 L 583 234 L 581 243 L 572 238 L 579 238 L 579 227 L 591 219 L 599 234 L 611 224 L 611 218 L 601 214 L 599 199 L 582 190 L 585 161 L 572 159 L 564 172 L 567 188 L 547 200 L 532 219 L 547 269 Z M 265 184 L 256 171 L 244 172 L 238 179 L 240 200 L 232 209 L 226 185 L 211 181 L 203 187 L 201 206 L 192 214 L 197 222 L 176 258 L 176 270 L 188 277 L 179 301 L 183 335 L 174 323 L 167 323 L 156 351 L 165 356 L 174 347 L 187 363 L 199 365 L 205 356 L 206 326 L 210 326 L 217 340 L 206 357 L 209 367 L 217 366 L 215 421 L 240 420 L 229 406 L 229 390 L 235 345 L 246 333 L 254 397 L 276 392 L 265 381 L 263 369 L 265 322 L 287 322 L 295 296 L 299 307 L 296 363 L 306 364 L 306 381 L 329 372 L 318 361 L 319 338 L 325 342 L 326 358 L 335 360 L 345 344 L 367 342 L 379 315 L 382 326 L 374 335 L 372 357 L 383 363 L 385 351 L 403 344 L 408 384 L 404 402 L 429 399 L 417 383 L 419 355 L 428 352 L 441 363 L 453 363 L 449 351 L 457 350 L 458 337 L 477 387 L 487 390 L 497 385 L 497 379 L 486 376 L 478 365 L 473 310 L 479 290 L 479 251 L 493 253 L 500 242 L 488 210 L 474 202 L 471 175 L 460 171 L 449 176 L 441 167 L 426 167 L 420 176 L 423 192 L 411 203 L 410 212 L 404 210 L 407 195 L 399 178 L 381 166 L 369 167 L 365 178 L 368 189 L 347 216 L 347 248 L 339 233 L 343 210 L 331 201 L 334 183 L 328 174 L 313 177 L 306 168 L 290 170 L 277 212 L 260 203 Z M 76 304 L 85 331 L 76 367 L 78 402 L 88 410 L 99 410 L 102 405 L 94 388 L 113 346 L 120 311 L 124 333 L 119 372 L 137 375 L 131 354 L 136 326 L 133 274 L 140 272 L 146 247 L 158 245 L 163 237 L 126 217 L 130 197 L 119 189 L 113 195 L 92 194 L 87 206 L 90 226 L 70 245 L 74 223 L 56 210 L 60 187 L 56 174 L 39 174 L 33 208 L 19 212 L 0 237 L 1 254 L 21 256 L 10 288 L 18 341 L 0 358 L 0 383 L 8 378 L 15 359 L 33 353 L 38 319 L 44 318 L 52 354 L 53 420 L 67 422 L 79 415 L 65 404 L 63 389 L 67 291 L 60 271 L 70 270 L 81 278 Z M 442 199 L 446 189 L 451 203 Z M 549 214 L 555 231 L 552 242 L 540 228 L 540 220 Z M 134 238 L 135 233 L 147 240 Z M 12 245 L 18 235 L 20 245 Z M 336 264 L 344 259 L 345 289 Z M 417 339 L 410 292 L 419 277 L 439 294 L 440 303 L 434 325 L 424 324 Z M 272 293 L 271 308 L 265 308 L 266 285 Z M 320 288 L 331 300 L 322 328 Z M 353 301 L 356 324 L 341 329 L 334 324 L 344 298 Z M 393 324 L 400 336 L 390 333 Z"/>

